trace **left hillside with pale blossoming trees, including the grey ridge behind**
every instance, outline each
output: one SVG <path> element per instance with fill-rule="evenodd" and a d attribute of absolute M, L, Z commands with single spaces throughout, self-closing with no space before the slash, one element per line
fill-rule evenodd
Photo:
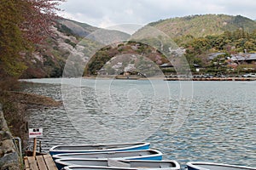
<path fill-rule="evenodd" d="M 27 69 L 21 78 L 61 77 L 66 60 L 71 53 L 77 56 L 86 53 L 85 47 L 91 42 L 84 37 L 92 32 L 96 33 L 91 34 L 90 38 L 101 41 L 101 37 L 106 35 L 111 37 L 111 41 L 130 37 L 121 31 L 99 30 L 94 26 L 63 18 L 55 22 L 52 31 L 53 34 L 47 38 L 44 44 L 36 45 L 32 54 L 24 54 L 23 59 Z"/>

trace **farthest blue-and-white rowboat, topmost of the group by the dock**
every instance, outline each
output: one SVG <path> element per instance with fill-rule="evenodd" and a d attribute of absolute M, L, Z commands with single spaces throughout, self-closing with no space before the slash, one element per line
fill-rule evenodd
<path fill-rule="evenodd" d="M 50 155 L 62 153 L 85 153 L 121 150 L 148 150 L 149 143 L 126 143 L 126 144 L 78 144 L 78 145 L 55 145 L 49 149 Z"/>

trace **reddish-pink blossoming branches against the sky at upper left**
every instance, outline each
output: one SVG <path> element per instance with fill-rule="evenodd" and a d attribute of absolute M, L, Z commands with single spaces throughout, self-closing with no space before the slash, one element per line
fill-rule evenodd
<path fill-rule="evenodd" d="M 21 0 L 20 14 L 25 19 L 20 29 L 30 42 L 40 43 L 52 32 L 57 6 L 63 0 Z"/>

